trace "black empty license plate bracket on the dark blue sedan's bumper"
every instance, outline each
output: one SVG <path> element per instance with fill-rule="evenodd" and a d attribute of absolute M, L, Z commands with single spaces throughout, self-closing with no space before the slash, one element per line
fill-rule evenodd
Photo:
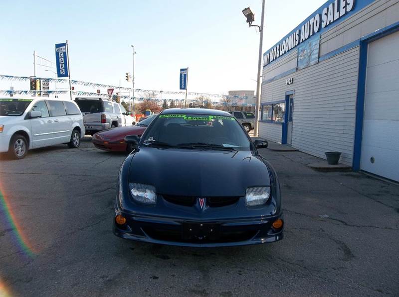
<path fill-rule="evenodd" d="M 183 223 L 184 240 L 217 240 L 219 238 L 220 225 L 213 223 Z"/>

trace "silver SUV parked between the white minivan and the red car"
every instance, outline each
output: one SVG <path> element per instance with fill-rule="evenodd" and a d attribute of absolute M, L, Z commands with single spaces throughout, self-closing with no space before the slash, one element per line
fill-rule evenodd
<path fill-rule="evenodd" d="M 136 123 L 130 112 L 115 101 L 102 98 L 76 98 L 75 102 L 82 111 L 86 133 L 89 135 Z"/>

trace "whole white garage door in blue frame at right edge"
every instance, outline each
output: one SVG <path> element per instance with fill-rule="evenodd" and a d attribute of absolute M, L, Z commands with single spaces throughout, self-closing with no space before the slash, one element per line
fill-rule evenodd
<path fill-rule="evenodd" d="M 364 171 L 399 181 L 399 32 L 369 44 L 362 157 Z"/>

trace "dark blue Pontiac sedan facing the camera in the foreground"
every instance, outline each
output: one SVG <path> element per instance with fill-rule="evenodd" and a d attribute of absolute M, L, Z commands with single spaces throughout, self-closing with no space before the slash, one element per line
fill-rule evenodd
<path fill-rule="evenodd" d="M 279 180 L 229 113 L 164 110 L 118 176 L 116 236 L 179 246 L 233 246 L 283 238 Z"/>

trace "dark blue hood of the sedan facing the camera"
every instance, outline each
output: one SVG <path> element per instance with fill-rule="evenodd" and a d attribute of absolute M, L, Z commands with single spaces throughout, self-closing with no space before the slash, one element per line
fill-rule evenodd
<path fill-rule="evenodd" d="M 133 156 L 129 182 L 155 186 L 176 196 L 245 196 L 254 186 L 269 186 L 266 164 L 251 151 L 141 147 Z"/>

